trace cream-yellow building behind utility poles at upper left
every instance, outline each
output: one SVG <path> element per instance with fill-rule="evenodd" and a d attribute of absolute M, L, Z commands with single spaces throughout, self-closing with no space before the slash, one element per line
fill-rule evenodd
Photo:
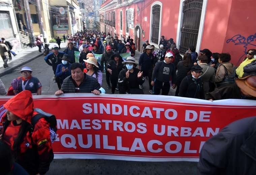
<path fill-rule="evenodd" d="M 46 42 L 51 38 L 58 36 L 62 38 L 63 34 L 70 35 L 82 30 L 82 15 L 76 0 L 40 0 L 39 2 Z M 27 26 L 23 0 L 15 1 L 14 7 L 19 29 L 23 30 L 22 23 Z M 29 1 L 29 8 L 34 35 L 40 35 L 35 0 Z"/>

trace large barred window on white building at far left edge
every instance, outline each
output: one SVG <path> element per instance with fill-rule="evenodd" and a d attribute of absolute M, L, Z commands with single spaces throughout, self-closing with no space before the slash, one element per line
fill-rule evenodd
<path fill-rule="evenodd" d="M 7 39 L 13 37 L 13 35 L 9 11 L 0 11 L 0 36 Z"/>

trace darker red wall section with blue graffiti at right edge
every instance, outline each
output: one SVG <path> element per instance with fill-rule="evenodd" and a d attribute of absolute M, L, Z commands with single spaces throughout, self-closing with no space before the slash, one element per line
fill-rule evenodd
<path fill-rule="evenodd" d="M 222 51 L 230 53 L 231 62 L 235 65 L 243 61 L 249 49 L 256 49 L 255 7 L 255 0 L 232 1 Z"/>

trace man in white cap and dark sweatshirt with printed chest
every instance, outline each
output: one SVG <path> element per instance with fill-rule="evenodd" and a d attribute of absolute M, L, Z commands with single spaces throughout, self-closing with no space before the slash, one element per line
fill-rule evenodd
<path fill-rule="evenodd" d="M 154 95 L 159 95 L 162 89 L 162 95 L 168 95 L 170 90 L 170 79 L 175 82 L 175 66 L 171 63 L 173 55 L 168 52 L 165 55 L 164 61 L 156 64 L 152 74 L 151 85 L 154 86 Z M 172 89 L 175 89 L 175 84 L 172 84 Z"/>

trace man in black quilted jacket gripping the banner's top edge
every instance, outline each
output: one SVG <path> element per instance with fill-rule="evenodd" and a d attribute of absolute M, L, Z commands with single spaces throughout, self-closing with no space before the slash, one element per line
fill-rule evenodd
<path fill-rule="evenodd" d="M 70 69 L 71 75 L 64 79 L 61 90 L 56 91 L 55 95 L 64 93 L 93 93 L 99 95 L 101 93 L 98 80 L 85 74 L 81 63 L 73 63 Z"/>

